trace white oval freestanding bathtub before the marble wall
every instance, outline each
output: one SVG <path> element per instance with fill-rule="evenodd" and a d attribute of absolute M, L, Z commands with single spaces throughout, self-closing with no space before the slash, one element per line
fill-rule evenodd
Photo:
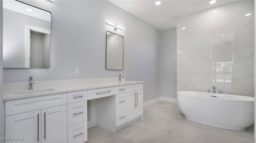
<path fill-rule="evenodd" d="M 178 105 L 186 119 L 233 130 L 254 123 L 254 98 L 232 94 L 180 91 Z"/>

